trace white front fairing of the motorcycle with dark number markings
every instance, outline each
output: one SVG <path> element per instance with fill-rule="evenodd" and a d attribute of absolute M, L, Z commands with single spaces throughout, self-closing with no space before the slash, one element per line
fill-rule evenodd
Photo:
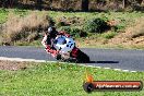
<path fill-rule="evenodd" d="M 71 51 L 75 46 L 75 41 L 73 38 L 69 38 L 65 36 L 56 37 L 55 41 L 55 48 L 57 50 L 60 50 L 60 52 L 69 52 Z"/>

